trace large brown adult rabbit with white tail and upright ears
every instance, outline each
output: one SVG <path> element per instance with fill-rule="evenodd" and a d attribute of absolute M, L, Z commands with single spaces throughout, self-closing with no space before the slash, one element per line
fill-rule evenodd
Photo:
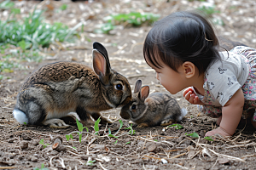
<path fill-rule="evenodd" d="M 84 125 L 94 124 L 100 111 L 126 105 L 131 100 L 127 79 L 110 67 L 108 52 L 93 43 L 93 69 L 74 62 L 44 65 L 20 88 L 13 116 L 20 124 L 67 128 L 60 118 L 74 116 Z M 101 116 L 101 123 L 111 123 Z"/>

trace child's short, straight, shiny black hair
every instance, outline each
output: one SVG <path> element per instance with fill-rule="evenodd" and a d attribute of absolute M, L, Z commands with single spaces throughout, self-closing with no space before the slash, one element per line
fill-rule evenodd
<path fill-rule="evenodd" d="M 172 13 L 155 22 L 145 39 L 143 55 L 148 64 L 161 68 L 160 63 L 165 63 L 174 71 L 190 61 L 199 75 L 220 59 L 218 39 L 211 24 L 192 12 Z"/>

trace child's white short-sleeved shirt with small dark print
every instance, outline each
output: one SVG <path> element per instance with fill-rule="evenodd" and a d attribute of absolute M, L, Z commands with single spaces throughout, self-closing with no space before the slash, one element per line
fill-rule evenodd
<path fill-rule="evenodd" d="M 207 105 L 224 106 L 249 75 L 250 66 L 245 56 L 233 52 L 220 52 L 220 55 L 222 59 L 210 65 L 205 73 L 205 96 L 197 94 Z"/>

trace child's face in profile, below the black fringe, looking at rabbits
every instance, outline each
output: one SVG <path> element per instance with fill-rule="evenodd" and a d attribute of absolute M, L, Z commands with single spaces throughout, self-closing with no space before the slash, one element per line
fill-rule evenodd
<path fill-rule="evenodd" d="M 177 92 L 187 88 L 186 78 L 180 66 L 177 71 L 173 71 L 168 65 L 162 64 L 162 68 L 155 68 L 156 78 L 160 81 L 161 85 L 166 88 L 171 94 L 177 94 Z"/>

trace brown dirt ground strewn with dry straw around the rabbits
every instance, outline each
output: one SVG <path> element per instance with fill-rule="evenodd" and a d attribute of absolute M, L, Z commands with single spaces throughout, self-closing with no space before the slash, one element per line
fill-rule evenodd
<path fill-rule="evenodd" d="M 66 3 L 52 2 L 52 5 L 59 8 L 63 2 Z M 15 6 L 22 8 L 22 16 L 38 3 L 40 2 L 15 1 Z M 209 3 L 214 3 L 215 9 L 219 10 L 219 13 L 213 14 L 213 18 L 224 22 L 224 26 L 215 25 L 218 35 L 256 48 L 255 1 L 209 0 L 207 4 Z M 143 60 L 143 40 L 150 26 L 119 26 L 109 35 L 96 34 L 93 30 L 109 14 L 138 11 L 161 14 L 164 17 L 177 10 L 197 8 L 202 4 L 205 3 L 188 0 L 171 0 L 169 3 L 160 0 L 67 2 L 67 10 L 55 13 L 47 8 L 47 3 L 41 2 L 37 8 L 47 9 L 45 21 L 61 21 L 70 27 L 84 22 L 84 31 L 77 42 L 63 43 L 61 48 L 60 45 L 52 45 L 45 51 L 42 62 L 24 62 L 22 65 L 26 69 L 1 73 L 4 78 L 0 82 L 0 169 L 40 169 L 42 164 L 48 169 L 256 169 L 256 136 L 253 127 L 241 124 L 230 139 L 203 139 L 208 130 L 216 127 L 216 120 L 199 114 L 195 105 L 189 105 L 183 99 L 181 92 L 173 95 L 178 104 L 188 110 L 183 122 L 179 123 L 183 126 L 181 129 L 137 128 L 132 125 L 136 133 L 131 135 L 128 133 L 129 129 L 125 129 L 131 124 L 120 118 L 119 109 L 114 109 L 105 111 L 102 115 L 109 116 L 115 122 L 100 126 L 101 136 L 91 134 L 94 130 L 89 127 L 90 133 L 83 133 L 80 143 L 76 133 L 73 133 L 73 139 L 66 139 L 67 134 L 78 131 L 76 123 L 70 120 L 67 122 L 71 127 L 54 129 L 20 126 L 12 116 L 16 94 L 32 71 L 40 65 L 59 60 L 91 65 L 92 42 L 104 44 L 108 49 L 112 68 L 128 78 L 132 89 L 137 79 L 141 79 L 143 85 L 149 85 L 151 93 L 167 93 L 156 80 L 154 71 Z M 4 13 L 6 12 L 2 10 L 1 20 L 6 16 Z M 88 38 L 91 42 L 87 41 Z M 47 53 L 53 55 L 45 55 Z M 121 129 L 119 120 L 124 122 Z M 108 128 L 112 133 L 118 132 L 118 138 L 108 137 Z M 199 139 L 185 135 L 194 132 L 200 135 Z M 53 149 L 55 137 L 62 140 L 59 142 L 61 150 Z M 44 139 L 44 144 L 39 144 L 41 139 Z"/>

